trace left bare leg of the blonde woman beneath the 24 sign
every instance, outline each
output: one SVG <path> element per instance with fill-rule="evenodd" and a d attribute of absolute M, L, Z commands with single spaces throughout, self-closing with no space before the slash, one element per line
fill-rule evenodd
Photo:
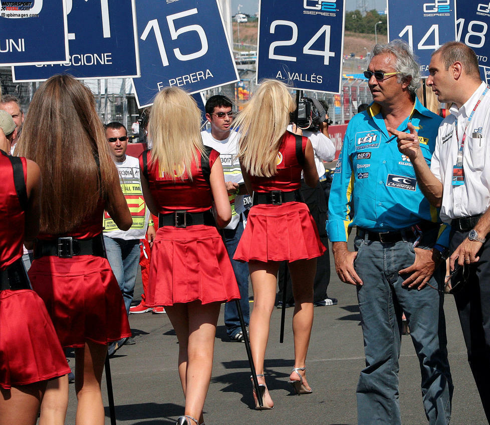
<path fill-rule="evenodd" d="M 249 327 L 250 346 L 256 372 L 263 374 L 271 315 L 276 300 L 279 263 L 276 261 L 267 263 L 250 261 L 249 270 L 254 290 L 254 308 L 250 315 Z M 259 383 L 265 383 L 263 376 L 258 376 L 257 379 Z M 274 405 L 269 391 L 264 394 L 264 404 L 268 404 L 271 407 Z"/>

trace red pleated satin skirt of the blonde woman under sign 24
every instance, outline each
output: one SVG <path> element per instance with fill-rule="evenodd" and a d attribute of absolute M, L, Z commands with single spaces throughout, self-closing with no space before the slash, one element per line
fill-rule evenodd
<path fill-rule="evenodd" d="M 320 257 L 326 248 L 303 202 L 255 205 L 233 259 L 238 261 L 297 261 Z"/>

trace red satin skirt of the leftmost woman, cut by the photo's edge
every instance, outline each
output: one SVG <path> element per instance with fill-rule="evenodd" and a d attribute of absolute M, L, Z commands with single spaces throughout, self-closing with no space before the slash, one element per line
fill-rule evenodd
<path fill-rule="evenodd" d="M 0 291 L 0 386 L 70 373 L 43 300 L 30 289 Z"/>

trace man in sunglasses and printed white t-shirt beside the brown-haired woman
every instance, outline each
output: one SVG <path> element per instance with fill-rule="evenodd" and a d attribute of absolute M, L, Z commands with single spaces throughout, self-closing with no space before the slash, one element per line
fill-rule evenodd
<path fill-rule="evenodd" d="M 121 189 L 128 203 L 133 225 L 129 230 L 120 230 L 109 214 L 104 212 L 104 243 L 107 259 L 121 288 L 129 314 L 129 307 L 133 300 L 134 285 L 140 257 L 140 239 L 145 238 L 148 229 L 148 238 L 155 237 L 153 225 L 148 226 L 150 212 L 146 208 L 143 199 L 143 190 L 140 181 L 139 161 L 137 158 L 126 155 L 128 147 L 128 134 L 126 128 L 117 122 L 105 126 L 106 139 L 113 154 L 114 163 L 119 173 Z M 134 343 L 132 338 L 118 341 L 109 346 L 109 354 L 112 354 L 124 343 Z M 114 345 L 114 346 L 113 346 Z M 114 348 L 111 350 L 111 348 Z"/>

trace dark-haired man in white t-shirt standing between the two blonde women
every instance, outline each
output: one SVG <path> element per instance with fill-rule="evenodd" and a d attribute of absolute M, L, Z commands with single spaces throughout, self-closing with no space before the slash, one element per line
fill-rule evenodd
<path fill-rule="evenodd" d="M 243 320 L 245 325 L 248 326 L 250 319 L 249 266 L 247 263 L 235 261 L 232 258 L 243 233 L 243 225 L 247 223 L 247 215 L 252 206 L 252 199 L 247 194 L 238 161 L 239 136 L 235 131 L 230 130 L 233 122 L 231 101 L 226 96 L 211 96 L 206 102 L 205 109 L 206 119 L 211 124 L 211 129 L 201 132 L 202 142 L 205 146 L 209 146 L 219 152 L 219 157 L 221 158 L 224 181 L 231 205 L 231 221 L 223 229 L 223 234 L 240 290 L 240 306 Z M 244 342 L 234 301 L 227 302 L 224 306 L 224 324 L 226 325 L 226 332 L 232 341 Z"/>

